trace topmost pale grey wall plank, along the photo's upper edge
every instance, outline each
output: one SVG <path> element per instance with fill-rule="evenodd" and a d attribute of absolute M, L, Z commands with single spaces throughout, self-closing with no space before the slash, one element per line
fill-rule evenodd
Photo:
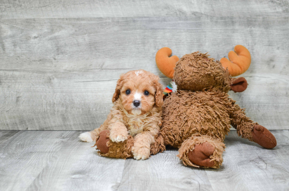
<path fill-rule="evenodd" d="M 0 18 L 288 15 L 287 0 L 26 0 L 0 2 Z"/>

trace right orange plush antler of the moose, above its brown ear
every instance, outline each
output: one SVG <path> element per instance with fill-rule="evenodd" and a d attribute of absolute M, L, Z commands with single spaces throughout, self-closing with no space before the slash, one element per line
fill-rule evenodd
<path fill-rule="evenodd" d="M 242 45 L 235 46 L 234 51 L 230 51 L 228 54 L 230 61 L 222 58 L 220 62 L 224 69 L 228 68 L 231 76 L 239 76 L 249 68 L 251 64 L 251 54 Z"/>

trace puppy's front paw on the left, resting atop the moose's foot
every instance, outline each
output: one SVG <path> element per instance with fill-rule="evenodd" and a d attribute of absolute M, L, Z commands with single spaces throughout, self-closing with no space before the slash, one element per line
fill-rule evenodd
<path fill-rule="evenodd" d="M 127 127 L 122 122 L 109 124 L 108 130 L 110 130 L 109 139 L 112 142 L 124 142 L 127 140 Z"/>

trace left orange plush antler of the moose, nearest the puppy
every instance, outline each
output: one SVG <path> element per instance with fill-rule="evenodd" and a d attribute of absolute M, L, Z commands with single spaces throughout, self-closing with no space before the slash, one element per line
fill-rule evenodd
<path fill-rule="evenodd" d="M 159 70 L 169 78 L 174 77 L 175 63 L 179 61 L 177 56 L 169 57 L 172 54 L 172 50 L 168 47 L 161 48 L 155 55 L 155 62 Z"/>

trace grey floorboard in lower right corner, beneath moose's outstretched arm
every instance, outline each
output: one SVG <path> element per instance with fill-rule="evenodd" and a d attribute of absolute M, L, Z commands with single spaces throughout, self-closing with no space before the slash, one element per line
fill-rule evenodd
<path fill-rule="evenodd" d="M 270 150 L 254 142 L 237 138 L 235 132 L 226 137 L 224 162 L 220 170 L 206 171 L 214 190 L 288 190 L 289 131 L 272 131 L 277 146 Z M 278 162 L 277 162 L 278 161 Z"/>

